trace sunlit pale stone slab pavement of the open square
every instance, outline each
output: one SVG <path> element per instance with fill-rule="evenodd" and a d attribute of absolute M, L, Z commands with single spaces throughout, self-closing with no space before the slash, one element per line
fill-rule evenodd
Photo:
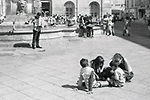
<path fill-rule="evenodd" d="M 45 51 L 0 47 L 0 100 L 150 100 L 150 50 L 100 32 L 95 30 L 94 38 L 43 39 L 40 44 Z M 116 52 L 129 60 L 135 73 L 132 82 L 122 88 L 95 88 L 93 94 L 73 90 L 82 57 L 91 60 L 102 55 L 107 66 Z"/>

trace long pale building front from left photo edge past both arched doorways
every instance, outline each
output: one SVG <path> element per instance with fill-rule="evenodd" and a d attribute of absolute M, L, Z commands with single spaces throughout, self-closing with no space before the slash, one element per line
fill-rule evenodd
<path fill-rule="evenodd" d="M 24 12 L 35 14 L 39 11 L 46 12 L 49 15 L 67 15 L 77 16 L 91 15 L 93 17 L 102 17 L 105 13 L 111 13 L 111 0 L 0 0 L 3 4 L 3 12 L 6 15 L 17 14 L 18 2 L 25 1 Z M 2 5 L 0 5 L 2 7 Z M 2 11 L 1 11 L 2 12 Z"/>

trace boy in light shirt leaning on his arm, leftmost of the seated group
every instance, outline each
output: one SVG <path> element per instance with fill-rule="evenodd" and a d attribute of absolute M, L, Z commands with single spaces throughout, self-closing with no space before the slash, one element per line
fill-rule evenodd
<path fill-rule="evenodd" d="M 80 60 L 80 65 L 82 66 L 80 70 L 80 77 L 78 81 L 78 89 L 82 89 L 84 87 L 85 90 L 87 90 L 88 94 L 93 93 L 92 88 L 101 87 L 103 84 L 108 85 L 108 82 L 103 82 L 103 84 L 99 81 L 96 81 L 96 73 L 94 72 L 94 69 L 91 68 L 88 64 L 88 60 L 85 58 L 82 58 Z"/>

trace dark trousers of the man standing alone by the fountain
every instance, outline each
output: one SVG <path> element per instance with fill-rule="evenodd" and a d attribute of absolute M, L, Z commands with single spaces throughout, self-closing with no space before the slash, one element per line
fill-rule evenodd
<path fill-rule="evenodd" d="M 39 46 L 39 38 L 40 38 L 41 31 L 33 30 L 33 39 L 32 39 L 32 46 Z"/>

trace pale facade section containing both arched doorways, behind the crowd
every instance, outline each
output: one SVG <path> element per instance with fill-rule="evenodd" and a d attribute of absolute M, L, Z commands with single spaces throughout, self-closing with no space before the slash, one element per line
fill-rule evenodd
<path fill-rule="evenodd" d="M 111 12 L 111 0 L 61 0 L 53 1 L 53 14 L 67 16 L 91 15 L 102 17 L 105 13 Z"/>

